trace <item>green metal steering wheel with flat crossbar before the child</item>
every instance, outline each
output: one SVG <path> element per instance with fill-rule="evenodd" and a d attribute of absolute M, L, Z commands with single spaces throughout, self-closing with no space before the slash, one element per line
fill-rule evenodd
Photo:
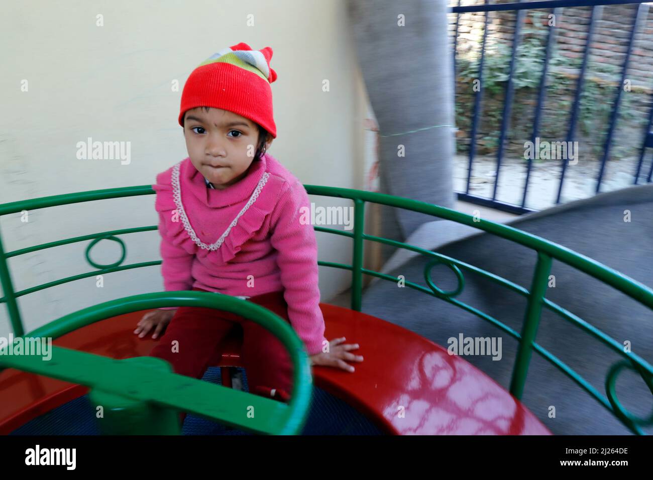
<path fill-rule="evenodd" d="M 108 317 L 168 306 L 226 310 L 251 319 L 272 332 L 287 348 L 293 362 L 293 392 L 289 403 L 174 374 L 162 370 L 160 365 L 157 366 L 153 362 L 148 364 L 148 357 L 115 360 L 53 346 L 50 360 L 44 360 L 37 355 L 2 356 L 0 364 L 86 385 L 91 388 L 91 392 L 102 392 L 91 393 L 91 399 L 109 398 L 108 402 L 131 404 L 135 411 L 141 412 L 141 417 L 151 415 L 151 418 L 161 418 L 153 413 L 156 409 L 163 409 L 168 413 L 170 410 L 180 410 L 252 432 L 300 432 L 308 414 L 312 389 L 310 364 L 304 344 L 295 330 L 281 317 L 246 300 L 221 293 L 199 291 L 133 295 L 65 315 L 34 330 L 30 336 L 56 338 Z M 106 406 L 101 407 L 106 410 Z M 166 418 L 169 419 L 170 415 Z M 134 431 L 133 423 L 113 425 L 112 428 L 114 432 L 161 433 L 160 425 L 157 424 L 151 424 L 151 430 L 147 430 L 148 427 L 145 426 Z"/>

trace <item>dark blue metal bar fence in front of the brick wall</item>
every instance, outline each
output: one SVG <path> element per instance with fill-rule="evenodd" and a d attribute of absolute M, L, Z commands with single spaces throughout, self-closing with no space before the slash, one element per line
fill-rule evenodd
<path fill-rule="evenodd" d="M 626 80 L 626 72 L 628 71 L 628 62 L 631 56 L 631 51 L 633 48 L 633 39 L 635 38 L 635 33 L 638 30 L 639 25 L 643 17 L 645 16 L 643 12 L 646 12 L 647 9 L 644 8 L 643 1 L 633 1 L 633 0 L 546 0 L 546 1 L 528 1 L 522 2 L 518 1 L 517 3 L 502 3 L 502 4 L 490 4 L 489 0 L 485 1 L 484 5 L 474 5 L 474 6 L 461 6 L 461 0 L 458 0 L 458 6 L 452 7 L 451 12 L 455 15 L 455 27 L 454 27 L 454 49 L 453 49 L 453 61 L 454 61 L 454 78 L 456 72 L 456 46 L 458 45 L 458 27 L 460 22 L 460 14 L 470 13 L 470 12 L 485 12 L 485 21 L 483 26 L 483 40 L 481 40 L 481 55 L 479 59 L 479 72 L 478 80 L 481 88 L 479 91 L 474 93 L 475 97 L 473 99 L 473 116 L 471 118 L 471 142 L 469 149 L 469 164 L 468 164 L 468 175 L 466 182 L 466 189 L 464 192 L 458 192 L 458 199 L 468 201 L 474 204 L 479 204 L 483 206 L 489 206 L 490 208 L 496 208 L 498 210 L 503 210 L 506 212 L 511 212 L 515 214 L 523 214 L 526 212 L 533 211 L 530 208 L 526 207 L 526 198 L 528 195 L 528 187 L 531 180 L 532 172 L 532 159 L 526 159 L 526 175 L 524 180 L 523 195 L 520 204 L 510 204 L 507 202 L 502 202 L 497 198 L 497 192 L 500 182 L 500 170 L 502 167 L 502 159 L 504 155 L 504 146 L 506 142 L 506 134 L 509 129 L 509 120 L 511 117 L 511 109 L 513 107 L 513 75 L 515 74 L 515 59 L 517 56 L 517 49 L 520 44 L 520 29 L 524 23 L 524 14 L 526 10 L 535 10 L 535 9 L 549 9 L 552 10 L 553 14 L 560 14 L 563 12 L 565 7 L 590 7 L 590 19 L 587 30 L 587 40 L 584 47 L 584 52 L 582 54 L 582 63 L 580 67 L 579 76 L 576 82 L 576 88 L 573 97 L 573 103 L 571 104 L 571 111 L 569 116 L 569 124 L 566 128 L 566 140 L 567 142 L 573 142 L 575 139 L 576 125 L 579 120 L 579 108 L 581 106 L 581 95 L 583 88 L 583 81 L 587 71 L 588 57 L 590 54 L 590 48 L 592 44 L 592 36 L 594 35 L 594 27 L 596 25 L 596 10 L 604 5 L 616 5 L 616 4 L 637 4 L 635 9 L 635 14 L 631 19 L 631 30 L 628 37 L 628 44 L 626 49 L 626 55 L 624 56 L 624 61 L 621 67 L 621 82 L 616 86 L 614 91 L 614 100 L 612 111 L 609 116 L 609 125 L 607 126 L 607 133 L 605 135 L 605 142 L 603 143 L 603 153 L 601 155 L 601 163 L 599 171 L 596 177 L 596 193 L 601 191 L 601 182 L 603 182 L 603 177 L 605 174 L 605 165 L 610 159 L 610 150 L 614 141 L 614 131 L 616 122 L 618 119 L 619 107 L 622 100 L 622 91 L 624 91 L 624 80 Z M 494 176 L 494 187 L 492 189 L 492 195 L 488 197 L 481 197 L 479 195 L 473 195 L 470 193 L 470 180 L 471 172 L 473 168 L 473 162 L 476 152 L 476 143 L 477 135 L 479 133 L 479 121 L 481 117 L 481 104 L 483 101 L 483 64 L 485 61 L 486 54 L 486 42 L 488 37 L 488 12 L 500 12 L 500 11 L 515 11 L 515 31 L 513 37 L 513 46 L 511 52 L 511 61 L 509 66 L 508 78 L 505 82 L 505 96 L 503 103 L 503 116 L 501 122 L 501 131 L 498 138 L 498 148 L 496 153 L 496 175 Z M 549 72 L 549 61 L 551 55 L 552 43 L 554 42 L 555 27 L 549 27 L 549 33 L 546 42 L 545 48 L 545 58 L 543 61 L 543 69 L 541 74 L 541 80 L 539 82 L 539 90 L 537 91 L 537 100 L 535 101 L 535 108 L 533 112 L 533 126 L 532 126 L 532 135 L 531 141 L 535 143 L 535 138 L 538 136 L 540 121 L 543 106 L 546 101 L 546 80 L 547 72 Z M 454 80 L 455 85 L 455 80 Z M 455 89 L 454 89 L 455 91 Z M 604 101 L 605 99 L 596 99 L 595 101 Z M 653 103 L 652 103 L 653 105 Z M 648 165 L 648 173 L 646 172 L 646 148 L 653 147 L 653 106 L 648 115 L 648 124 L 646 125 L 645 131 L 643 131 L 643 138 L 641 141 L 641 153 L 639 155 L 639 162 L 637 162 L 637 169 L 633 172 L 633 184 L 642 184 L 650 183 L 651 177 L 653 175 L 653 160 L 650 161 Z M 569 144 L 569 143 L 567 143 Z M 555 196 L 555 203 L 560 203 L 560 196 L 562 193 L 562 186 L 565 181 L 565 172 L 567 170 L 568 159 L 562 159 L 560 161 L 560 183 L 558 184 L 557 193 Z"/>

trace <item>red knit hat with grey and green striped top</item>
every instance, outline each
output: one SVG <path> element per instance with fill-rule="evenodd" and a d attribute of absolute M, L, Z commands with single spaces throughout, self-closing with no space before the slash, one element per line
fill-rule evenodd
<path fill-rule="evenodd" d="M 179 124 L 183 127 L 187 110 L 212 106 L 249 118 L 276 138 L 270 84 L 277 79 L 277 73 L 270 68 L 271 59 L 269 46 L 252 50 L 246 43 L 232 45 L 206 59 L 183 86 Z"/>

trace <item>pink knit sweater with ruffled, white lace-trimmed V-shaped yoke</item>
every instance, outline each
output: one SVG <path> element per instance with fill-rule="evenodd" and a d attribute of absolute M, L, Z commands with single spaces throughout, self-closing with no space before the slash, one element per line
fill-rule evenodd
<path fill-rule="evenodd" d="M 284 291 L 309 355 L 322 351 L 317 242 L 300 208 L 306 189 L 270 153 L 226 189 L 211 189 L 190 158 L 157 175 L 161 274 L 166 291 L 198 287 L 234 296 Z M 195 237 L 195 238 L 193 238 Z"/>

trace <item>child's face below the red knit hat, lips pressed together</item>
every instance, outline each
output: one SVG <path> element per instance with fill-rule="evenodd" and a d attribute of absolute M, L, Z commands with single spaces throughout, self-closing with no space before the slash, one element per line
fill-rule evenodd
<path fill-rule="evenodd" d="M 185 113 L 183 136 L 188 156 L 216 189 L 225 189 L 247 175 L 254 160 L 259 128 L 253 121 L 229 110 L 203 107 Z M 272 136 L 266 139 L 266 148 Z"/>

